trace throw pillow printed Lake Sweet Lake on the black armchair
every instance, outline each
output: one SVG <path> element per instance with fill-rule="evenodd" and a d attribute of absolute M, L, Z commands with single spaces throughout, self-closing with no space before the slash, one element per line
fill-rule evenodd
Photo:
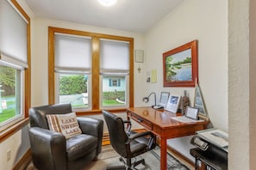
<path fill-rule="evenodd" d="M 66 138 L 82 133 L 75 112 L 66 114 L 47 114 L 47 122 L 51 131 L 62 133 Z"/>

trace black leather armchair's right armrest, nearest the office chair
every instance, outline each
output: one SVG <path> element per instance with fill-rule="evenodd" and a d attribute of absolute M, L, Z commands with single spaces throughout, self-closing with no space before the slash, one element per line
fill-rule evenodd
<path fill-rule="evenodd" d="M 103 142 L 103 120 L 78 117 L 78 124 L 82 133 L 97 137 L 97 155 L 100 154 Z"/>

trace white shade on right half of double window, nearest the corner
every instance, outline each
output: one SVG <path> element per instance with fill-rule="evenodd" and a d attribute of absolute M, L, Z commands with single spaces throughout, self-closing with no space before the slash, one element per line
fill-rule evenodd
<path fill-rule="evenodd" d="M 128 72 L 128 42 L 101 39 L 100 46 L 101 73 Z"/>

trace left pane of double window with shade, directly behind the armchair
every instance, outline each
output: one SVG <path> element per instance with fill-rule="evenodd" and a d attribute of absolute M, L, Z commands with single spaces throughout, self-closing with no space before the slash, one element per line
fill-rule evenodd
<path fill-rule="evenodd" d="M 71 103 L 73 109 L 86 109 L 91 74 L 91 38 L 55 33 L 56 103 Z"/>

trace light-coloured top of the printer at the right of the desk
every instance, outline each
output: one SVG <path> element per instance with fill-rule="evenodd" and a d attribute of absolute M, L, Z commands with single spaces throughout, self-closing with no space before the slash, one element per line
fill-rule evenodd
<path fill-rule="evenodd" d="M 197 131 L 197 136 L 228 151 L 228 133 L 224 131 L 217 129 Z"/>

